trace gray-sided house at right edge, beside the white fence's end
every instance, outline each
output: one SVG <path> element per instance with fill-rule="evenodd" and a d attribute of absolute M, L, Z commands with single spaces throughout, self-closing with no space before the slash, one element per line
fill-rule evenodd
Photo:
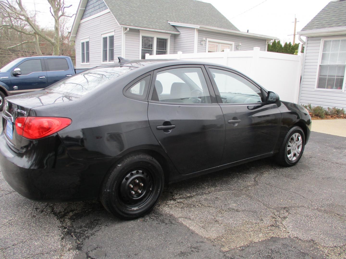
<path fill-rule="evenodd" d="M 346 108 L 346 0 L 329 2 L 298 34 L 307 37 L 299 102 Z"/>

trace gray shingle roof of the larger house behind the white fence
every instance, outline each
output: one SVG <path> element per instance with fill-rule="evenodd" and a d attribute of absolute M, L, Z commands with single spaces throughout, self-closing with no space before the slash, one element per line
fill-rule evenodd
<path fill-rule="evenodd" d="M 120 25 L 178 30 L 170 22 L 239 31 L 210 3 L 197 0 L 104 0 Z"/>

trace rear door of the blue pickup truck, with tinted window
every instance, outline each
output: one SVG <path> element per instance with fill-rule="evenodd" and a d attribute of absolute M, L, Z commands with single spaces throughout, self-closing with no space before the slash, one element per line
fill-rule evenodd
<path fill-rule="evenodd" d="M 66 58 L 44 58 L 44 61 L 47 70 L 48 86 L 73 74 Z"/>

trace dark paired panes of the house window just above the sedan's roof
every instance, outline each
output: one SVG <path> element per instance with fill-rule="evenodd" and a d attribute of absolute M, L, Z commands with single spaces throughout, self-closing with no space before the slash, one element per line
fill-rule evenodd
<path fill-rule="evenodd" d="M 145 54 L 164 55 L 168 54 L 168 38 L 159 36 L 142 36 L 141 59 L 145 59 Z"/>

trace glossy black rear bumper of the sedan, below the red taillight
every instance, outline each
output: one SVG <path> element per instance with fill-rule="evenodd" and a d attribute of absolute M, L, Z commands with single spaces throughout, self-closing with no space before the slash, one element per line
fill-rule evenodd
<path fill-rule="evenodd" d="M 74 160 L 58 136 L 51 152 L 14 152 L 0 135 L 0 164 L 4 179 L 19 194 L 32 200 L 66 201 L 95 199 L 99 195 L 110 159 Z M 47 137 L 50 138 L 50 137 Z M 44 139 L 43 139 L 44 140 Z M 37 146 L 36 146 L 37 147 Z"/>

